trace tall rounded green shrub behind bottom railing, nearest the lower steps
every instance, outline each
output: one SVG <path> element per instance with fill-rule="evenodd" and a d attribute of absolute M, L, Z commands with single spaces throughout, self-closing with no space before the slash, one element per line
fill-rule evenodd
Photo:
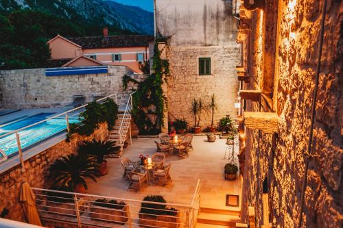
<path fill-rule="evenodd" d="M 158 203 L 167 203 L 165 199 L 160 195 L 147 195 L 144 197 L 143 201 L 151 201 Z M 142 203 L 141 210 L 139 211 L 143 214 L 150 214 L 152 216 L 158 215 L 169 215 L 176 216 L 178 211 L 173 207 L 167 207 L 166 205 L 154 204 L 154 203 Z"/>

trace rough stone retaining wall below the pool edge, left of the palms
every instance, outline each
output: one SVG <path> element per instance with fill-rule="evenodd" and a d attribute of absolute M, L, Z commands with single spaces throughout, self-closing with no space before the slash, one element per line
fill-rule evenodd
<path fill-rule="evenodd" d="M 27 181 L 33 188 L 49 188 L 46 183 L 47 169 L 54 163 L 56 159 L 64 155 L 75 153 L 78 148 L 78 143 L 82 140 L 95 138 L 98 140 L 106 140 L 108 137 L 107 123 L 99 126 L 91 136 L 84 137 L 75 134 L 70 142 L 63 140 L 54 147 L 29 158 L 24 162 L 25 171 L 21 170 L 21 164 L 10 168 L 10 170 L 1 173 L 0 175 L 0 213 L 4 208 L 9 210 L 8 216 L 12 220 L 19 220 L 25 222 L 23 214 L 23 207 L 19 202 L 19 195 L 21 192 L 21 183 Z"/>

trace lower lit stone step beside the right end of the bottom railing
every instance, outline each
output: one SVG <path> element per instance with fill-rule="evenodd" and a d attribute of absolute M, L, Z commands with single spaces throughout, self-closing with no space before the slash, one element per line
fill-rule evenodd
<path fill-rule="evenodd" d="M 235 227 L 236 223 L 239 223 L 240 221 L 241 219 L 239 218 L 239 216 L 233 216 L 228 214 L 213 214 L 201 212 L 198 215 L 198 223 L 210 225 Z"/>

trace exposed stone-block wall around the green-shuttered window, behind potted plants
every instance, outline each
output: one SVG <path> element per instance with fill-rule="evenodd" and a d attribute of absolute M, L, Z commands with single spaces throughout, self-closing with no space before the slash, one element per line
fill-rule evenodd
<path fill-rule="evenodd" d="M 211 57 L 212 75 L 198 75 L 198 58 Z M 230 114 L 237 116 L 235 99 L 238 81 L 236 65 L 241 64 L 240 45 L 217 47 L 169 47 L 167 51 L 171 76 L 168 78 L 168 112 L 171 121 L 185 118 L 189 127 L 193 127 L 193 118 L 189 112 L 191 101 L 202 98 L 209 103 L 215 94 L 219 109 L 215 111 L 214 121 Z M 202 129 L 211 125 L 211 112 L 202 112 Z"/>

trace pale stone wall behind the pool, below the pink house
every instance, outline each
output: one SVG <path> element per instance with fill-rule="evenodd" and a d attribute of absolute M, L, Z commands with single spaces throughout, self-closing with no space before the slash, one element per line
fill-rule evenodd
<path fill-rule="evenodd" d="M 0 71 L 0 108 L 63 107 L 73 101 L 73 95 L 84 95 L 88 102 L 114 93 L 123 105 L 128 98 L 121 88 L 125 74 L 132 74 L 125 66 L 108 66 L 107 74 L 54 77 L 45 76 L 44 68 Z"/>

